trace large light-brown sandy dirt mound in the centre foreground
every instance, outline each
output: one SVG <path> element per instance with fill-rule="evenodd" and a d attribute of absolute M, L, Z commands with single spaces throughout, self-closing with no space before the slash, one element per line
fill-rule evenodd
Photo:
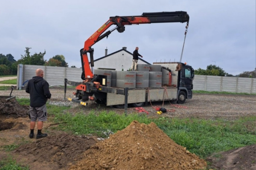
<path fill-rule="evenodd" d="M 70 170 L 194 170 L 206 162 L 176 144 L 153 122 L 133 121 L 84 152 Z"/>

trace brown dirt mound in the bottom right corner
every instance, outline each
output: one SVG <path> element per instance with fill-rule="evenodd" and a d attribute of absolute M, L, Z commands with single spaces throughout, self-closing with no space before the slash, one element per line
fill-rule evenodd
<path fill-rule="evenodd" d="M 207 158 L 217 170 L 256 170 L 256 144 L 216 153 Z"/>

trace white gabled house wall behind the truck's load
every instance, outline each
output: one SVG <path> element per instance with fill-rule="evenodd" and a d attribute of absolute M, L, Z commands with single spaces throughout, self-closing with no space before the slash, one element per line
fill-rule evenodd
<path fill-rule="evenodd" d="M 126 51 L 119 51 L 116 54 L 105 57 L 103 59 L 99 59 L 98 61 L 94 61 L 94 69 L 99 68 L 113 68 L 117 71 L 122 70 L 122 65 L 124 71 L 129 70 L 132 64 L 132 55 Z M 147 64 L 139 59 L 138 64 Z"/>

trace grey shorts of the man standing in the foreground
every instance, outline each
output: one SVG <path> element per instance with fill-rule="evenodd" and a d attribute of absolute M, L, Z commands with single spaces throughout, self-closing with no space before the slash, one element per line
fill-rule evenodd
<path fill-rule="evenodd" d="M 37 119 L 40 122 L 47 121 L 46 105 L 43 105 L 38 108 L 32 108 L 31 106 L 29 106 L 29 115 L 30 121 L 32 122 L 36 122 Z"/>

